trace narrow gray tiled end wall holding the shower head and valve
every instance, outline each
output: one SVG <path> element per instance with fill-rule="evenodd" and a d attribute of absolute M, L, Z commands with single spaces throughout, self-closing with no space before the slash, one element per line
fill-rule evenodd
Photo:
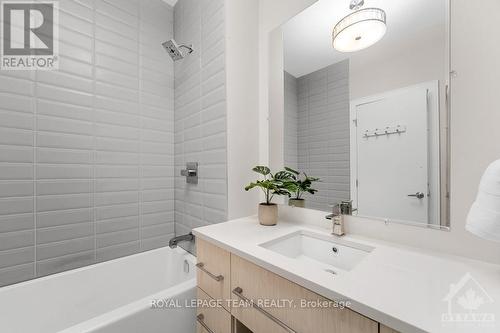
<path fill-rule="evenodd" d="M 224 0 L 179 0 L 174 35 L 195 51 L 175 62 L 175 232 L 227 219 Z M 180 171 L 199 162 L 199 183 Z"/>

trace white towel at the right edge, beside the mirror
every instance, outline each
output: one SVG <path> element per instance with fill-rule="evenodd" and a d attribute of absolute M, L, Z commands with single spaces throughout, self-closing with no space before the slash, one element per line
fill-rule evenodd
<path fill-rule="evenodd" d="M 486 169 L 465 229 L 481 238 L 500 242 L 500 160 Z"/>

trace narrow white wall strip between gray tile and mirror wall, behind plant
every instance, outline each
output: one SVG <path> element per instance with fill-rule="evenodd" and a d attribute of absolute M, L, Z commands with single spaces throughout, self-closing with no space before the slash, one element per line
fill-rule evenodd
<path fill-rule="evenodd" d="M 226 1 L 228 219 L 253 215 L 258 203 L 244 190 L 259 164 L 258 15 L 257 1 Z"/>

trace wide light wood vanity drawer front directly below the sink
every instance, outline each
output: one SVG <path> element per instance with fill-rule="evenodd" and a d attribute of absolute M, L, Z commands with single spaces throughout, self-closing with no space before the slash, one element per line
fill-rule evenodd
<path fill-rule="evenodd" d="M 240 296 L 237 295 L 238 292 L 235 293 L 236 289 Z M 250 329 L 253 329 L 252 321 L 256 323 L 271 320 L 273 323 L 282 323 L 279 325 L 281 331 L 276 330 L 276 332 L 378 333 L 377 322 L 352 310 L 334 306 L 303 306 L 303 301 L 318 304 L 328 300 L 235 255 L 231 255 L 231 290 L 233 301 L 241 302 L 242 295 L 257 305 L 262 300 L 274 302 L 274 304 L 267 303 L 269 306 L 260 303 L 263 305 L 261 308 L 274 320 L 269 319 L 269 316 L 257 314 L 254 308 L 236 306 L 231 308 L 231 314 Z M 275 304 L 280 306 L 274 306 Z M 292 331 L 284 328 L 286 326 Z M 266 330 L 256 330 L 256 333 L 258 332 L 266 333 Z"/>

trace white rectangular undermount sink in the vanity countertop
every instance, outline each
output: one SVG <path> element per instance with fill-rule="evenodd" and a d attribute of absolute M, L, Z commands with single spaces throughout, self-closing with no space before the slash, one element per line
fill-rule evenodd
<path fill-rule="evenodd" d="M 305 230 L 273 239 L 260 246 L 333 274 L 338 270 L 351 270 L 374 250 L 367 245 Z"/>

